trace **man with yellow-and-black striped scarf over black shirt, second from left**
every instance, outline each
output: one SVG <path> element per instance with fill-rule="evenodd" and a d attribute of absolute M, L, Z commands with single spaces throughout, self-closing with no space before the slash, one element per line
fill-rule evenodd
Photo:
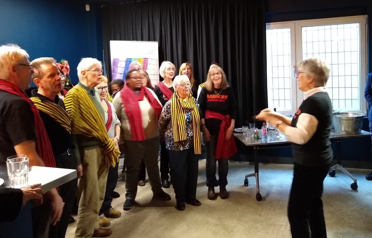
<path fill-rule="evenodd" d="M 33 82 L 38 89 L 32 90 L 31 100 L 39 109 L 49 140 L 51 142 L 57 168 L 77 169 L 81 176 L 81 164 L 76 166 L 72 149 L 70 116 L 65 110 L 58 92 L 62 90 L 61 77 L 53 58 L 38 58 L 31 62 L 33 65 Z M 77 190 L 77 178 L 59 187 L 59 193 L 65 203 L 60 221 L 49 228 L 49 237 L 64 238 L 74 198 Z"/>

